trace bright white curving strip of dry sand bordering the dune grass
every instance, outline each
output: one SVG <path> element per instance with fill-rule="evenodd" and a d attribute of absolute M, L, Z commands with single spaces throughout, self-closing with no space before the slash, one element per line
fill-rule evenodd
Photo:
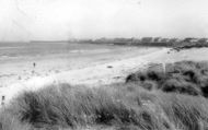
<path fill-rule="evenodd" d="M 154 50 L 143 56 L 135 56 L 132 58 L 116 59 L 111 62 L 100 62 L 85 68 L 77 68 L 59 73 L 50 73 L 49 75 L 37 75 L 28 80 L 20 80 L 5 87 L 0 87 L 0 97 L 5 96 L 5 104 L 18 94 L 24 91 L 36 91 L 49 84 L 69 83 L 72 85 L 84 84 L 89 86 L 97 86 L 101 84 L 109 84 L 114 82 L 124 82 L 125 76 L 140 68 L 145 68 L 151 58 L 161 57 L 169 49 Z M 147 60 L 148 59 L 148 60 Z"/>

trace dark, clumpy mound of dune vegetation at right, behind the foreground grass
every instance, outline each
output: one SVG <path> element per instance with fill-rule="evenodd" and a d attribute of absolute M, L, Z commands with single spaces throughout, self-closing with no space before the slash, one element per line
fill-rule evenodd
<path fill-rule="evenodd" d="M 126 82 L 135 82 L 147 90 L 161 90 L 208 97 L 208 62 L 180 61 L 162 67 L 153 67 L 127 76 Z"/>

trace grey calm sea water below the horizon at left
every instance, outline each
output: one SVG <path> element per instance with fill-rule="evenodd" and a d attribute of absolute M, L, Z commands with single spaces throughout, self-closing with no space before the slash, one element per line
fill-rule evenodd
<path fill-rule="evenodd" d="M 0 44 L 0 57 L 42 56 L 99 48 L 112 48 L 112 46 L 71 43 L 7 43 Z"/>

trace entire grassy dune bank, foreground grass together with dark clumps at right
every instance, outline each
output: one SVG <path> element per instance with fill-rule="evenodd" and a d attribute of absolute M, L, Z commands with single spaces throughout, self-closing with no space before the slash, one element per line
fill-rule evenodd
<path fill-rule="evenodd" d="M 207 130 L 208 63 L 152 66 L 127 83 L 49 85 L 0 111 L 0 130 Z"/>

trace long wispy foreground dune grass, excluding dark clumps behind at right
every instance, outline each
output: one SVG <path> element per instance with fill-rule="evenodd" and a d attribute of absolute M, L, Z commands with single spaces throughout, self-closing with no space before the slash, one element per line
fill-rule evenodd
<path fill-rule="evenodd" d="M 206 130 L 204 97 L 149 92 L 138 84 L 47 86 L 0 113 L 2 130 Z"/>

